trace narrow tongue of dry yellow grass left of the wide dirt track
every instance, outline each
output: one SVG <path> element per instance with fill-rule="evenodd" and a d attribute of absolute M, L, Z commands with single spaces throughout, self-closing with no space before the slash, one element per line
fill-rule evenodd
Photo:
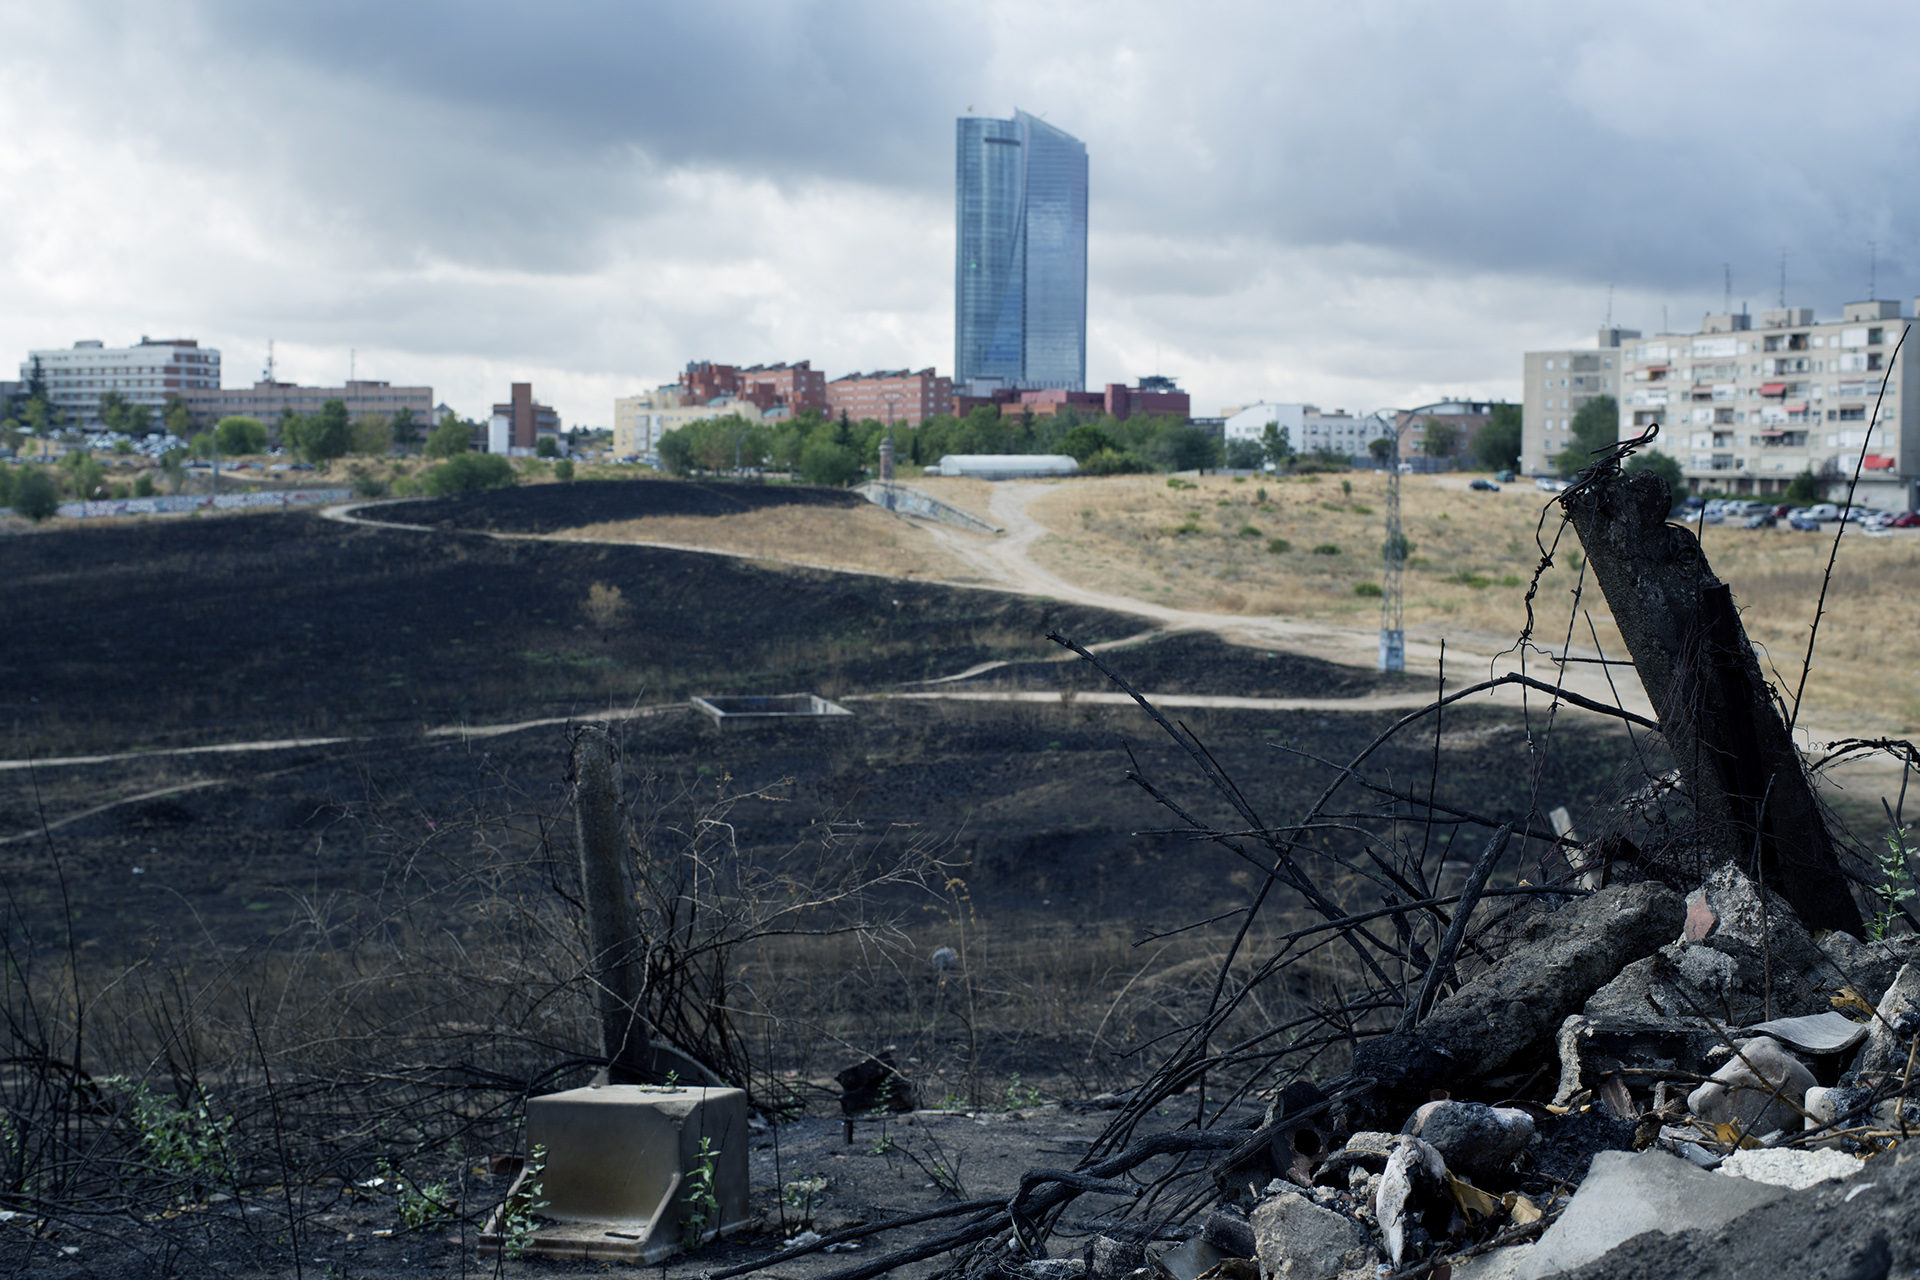
<path fill-rule="evenodd" d="M 977 578 L 920 528 L 879 507 L 770 507 L 732 516 L 647 516 L 566 530 L 578 541 L 710 547 L 770 560 L 803 560 L 900 578 Z"/>

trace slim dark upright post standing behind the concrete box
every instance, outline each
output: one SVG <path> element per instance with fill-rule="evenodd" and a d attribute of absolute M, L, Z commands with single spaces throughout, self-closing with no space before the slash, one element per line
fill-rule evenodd
<path fill-rule="evenodd" d="M 634 925 L 620 839 L 620 756 L 601 725 L 574 735 L 574 819 L 588 904 L 588 973 L 599 1004 L 607 1077 L 614 1084 L 641 1084 L 653 1069 L 641 1013 L 647 946 Z"/>

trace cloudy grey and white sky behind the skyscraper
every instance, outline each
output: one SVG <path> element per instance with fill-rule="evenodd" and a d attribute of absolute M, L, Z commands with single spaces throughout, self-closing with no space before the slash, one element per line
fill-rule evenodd
<path fill-rule="evenodd" d="M 1678 0 L 0 0 L 0 367 L 244 386 L 952 367 L 954 117 L 1091 155 L 1092 384 L 1519 395 L 1607 315 L 1920 290 L 1920 8 Z M 1870 248 L 1872 246 L 1872 248 Z"/>

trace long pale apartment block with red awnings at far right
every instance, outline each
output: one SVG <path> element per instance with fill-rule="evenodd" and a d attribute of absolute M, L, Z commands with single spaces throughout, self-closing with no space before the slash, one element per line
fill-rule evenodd
<path fill-rule="evenodd" d="M 1864 455 L 1855 503 L 1912 510 L 1920 347 L 1895 361 L 1903 328 L 1897 301 L 1855 301 L 1836 320 L 1811 307 L 1763 311 L 1759 326 L 1709 315 L 1697 334 L 1624 344 L 1620 436 L 1659 422 L 1653 447 L 1690 486 L 1724 493 L 1782 493 L 1803 470 L 1845 484 Z"/>

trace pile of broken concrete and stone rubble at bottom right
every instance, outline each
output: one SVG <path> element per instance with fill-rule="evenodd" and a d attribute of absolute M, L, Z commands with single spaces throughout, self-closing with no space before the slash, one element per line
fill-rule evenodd
<path fill-rule="evenodd" d="M 1657 1232 L 1642 1242 L 1647 1274 L 1711 1274 L 1678 1265 L 1667 1238 L 1761 1207 L 1780 1222 L 1782 1197 L 1849 1180 L 1847 1213 L 1834 1196 L 1807 1201 L 1799 1244 L 1866 1265 L 1832 1274 L 1885 1276 L 1920 1263 L 1905 1221 L 1920 1159 L 1903 1150 L 1920 1134 L 1916 1031 L 1920 936 L 1814 938 L 1730 865 L 1688 898 L 1605 889 L 1536 915 L 1415 1032 L 1365 1042 L 1340 1098 L 1286 1090 L 1261 1159 L 1231 1174 L 1192 1240 L 1102 1238 L 1083 1267 L 1096 1280 L 1532 1280 Z M 1538 1102 L 1548 1067 L 1557 1088 Z M 1446 1096 L 1413 1102 L 1417 1088 Z M 1889 1205 L 1905 1205 L 1895 1221 Z M 1784 1261 L 1772 1232 L 1751 1240 Z"/>

